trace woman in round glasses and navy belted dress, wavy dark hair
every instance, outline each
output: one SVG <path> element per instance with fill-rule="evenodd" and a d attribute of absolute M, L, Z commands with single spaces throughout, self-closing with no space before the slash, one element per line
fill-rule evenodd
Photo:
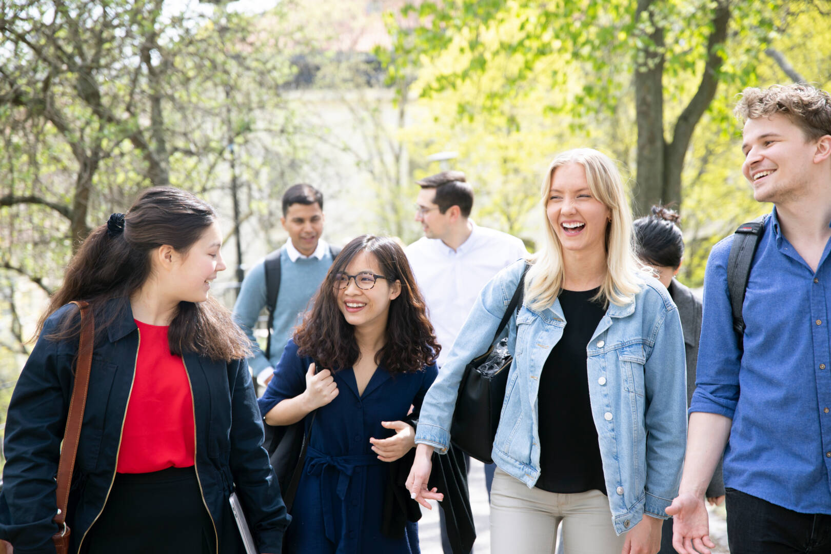
<path fill-rule="evenodd" d="M 411 552 L 415 524 L 382 532 L 385 493 L 439 346 L 404 251 L 355 238 L 313 302 L 259 400 L 268 424 L 312 425 L 284 552 Z"/>

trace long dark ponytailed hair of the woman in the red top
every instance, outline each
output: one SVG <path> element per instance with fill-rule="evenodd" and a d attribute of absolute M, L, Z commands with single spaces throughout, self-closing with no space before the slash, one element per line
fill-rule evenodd
<path fill-rule="evenodd" d="M 96 338 L 101 336 L 129 309 L 130 296 L 150 277 L 152 252 L 166 244 L 186 254 L 216 219 L 214 208 L 189 192 L 173 187 L 146 189 L 126 214 L 112 214 L 86 237 L 38 321 L 36 334 L 58 308 L 84 300 L 96 316 Z M 105 304 L 114 299 L 121 299 L 120 310 L 105 311 Z M 76 313 L 70 311 L 48 338 L 75 338 L 80 332 Z M 175 355 L 197 352 L 226 361 L 250 355 L 248 338 L 230 311 L 213 297 L 205 302 L 179 302 L 168 342 Z"/>

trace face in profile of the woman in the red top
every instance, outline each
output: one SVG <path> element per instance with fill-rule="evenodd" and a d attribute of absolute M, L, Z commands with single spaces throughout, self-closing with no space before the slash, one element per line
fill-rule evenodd
<path fill-rule="evenodd" d="M 171 295 L 178 302 L 208 300 L 210 283 L 217 273 L 224 271 L 222 259 L 222 231 L 219 223 L 211 223 L 202 236 L 184 254 L 176 254 L 168 284 Z"/>

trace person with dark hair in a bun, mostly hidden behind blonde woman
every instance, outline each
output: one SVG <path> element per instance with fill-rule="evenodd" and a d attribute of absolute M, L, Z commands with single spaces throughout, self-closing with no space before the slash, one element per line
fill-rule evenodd
<path fill-rule="evenodd" d="M 681 328 L 686 347 L 686 401 L 689 405 L 696 390 L 696 360 L 698 339 L 701 336 L 701 300 L 682 285 L 675 276 L 684 257 L 684 236 L 678 226 L 680 217 L 665 206 L 652 206 L 652 215 L 640 218 L 633 224 L 636 251 L 641 261 L 652 267 L 656 277 L 669 291 L 678 306 Z M 724 503 L 725 486 L 721 477 L 721 463 L 715 468 L 713 479 L 706 492 L 707 502 L 714 506 Z M 675 554 L 672 547 L 672 518 L 664 522 L 661 534 L 661 552 Z"/>

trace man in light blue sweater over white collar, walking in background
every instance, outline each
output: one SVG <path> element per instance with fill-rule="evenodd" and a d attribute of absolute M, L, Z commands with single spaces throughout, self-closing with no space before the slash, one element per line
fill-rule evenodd
<path fill-rule="evenodd" d="M 288 240 L 277 252 L 280 256 L 280 286 L 273 307 L 274 323 L 269 360 L 253 335 L 260 311 L 268 303 L 265 259 L 251 267 L 239 287 L 234 304 L 234 318 L 248 335 L 253 357 L 248 359 L 258 384 L 271 380 L 274 366 L 293 328 L 300 322 L 323 278 L 332 265 L 332 250 L 321 238 L 323 233 L 323 194 L 310 184 L 295 184 L 283 194 L 283 217 L 280 218 Z"/>

